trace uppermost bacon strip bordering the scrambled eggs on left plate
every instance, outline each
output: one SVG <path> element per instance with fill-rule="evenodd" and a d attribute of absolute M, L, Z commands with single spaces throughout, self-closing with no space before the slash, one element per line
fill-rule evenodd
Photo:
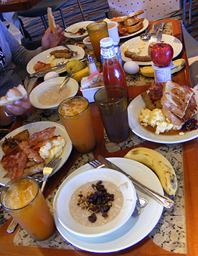
<path fill-rule="evenodd" d="M 55 129 L 56 127 L 49 127 L 41 132 L 35 132 L 28 140 L 29 145 L 32 147 L 33 145 L 36 145 L 38 142 L 50 139 L 52 136 L 54 136 Z"/>

